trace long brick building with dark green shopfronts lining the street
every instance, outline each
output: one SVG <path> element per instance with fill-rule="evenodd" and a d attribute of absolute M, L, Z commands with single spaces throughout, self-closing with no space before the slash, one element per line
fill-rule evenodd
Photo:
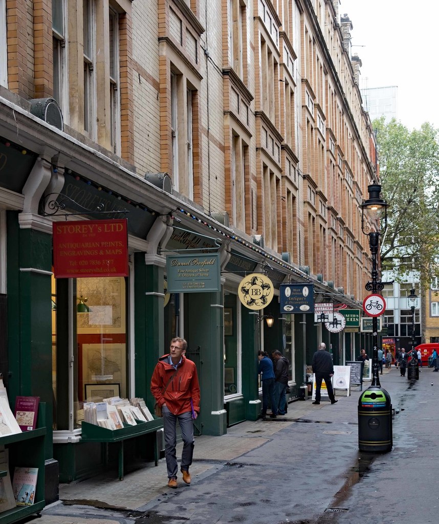
<path fill-rule="evenodd" d="M 335 363 L 367 346 L 364 335 L 330 334 L 312 315 L 280 319 L 278 307 L 281 282 L 306 282 L 316 301 L 360 309 L 370 275 L 359 204 L 378 177 L 376 143 L 352 23 L 338 8 L 338 0 L 0 0 L 8 299 L 0 319 L 9 332 L 0 357 L 14 372 L 12 398 L 38 394 L 53 405 L 47 457 L 63 482 L 99 463 L 95 454 L 86 464 L 75 447 L 85 381 L 111 375 L 121 396 L 150 404 L 153 365 L 171 336 L 186 337 L 203 366 L 210 392 L 197 429 L 211 434 L 259 416 L 258 348 L 274 344 L 288 356 L 298 398 L 317 342 Z M 61 197 L 74 216 L 50 212 Z M 52 222 L 90 220 L 100 203 L 128 213 L 129 277 L 93 286 L 54 279 Z M 221 290 L 169 297 L 166 254 L 218 245 Z M 258 318 L 237 297 L 254 271 L 275 288 Z M 119 332 L 100 326 L 99 339 L 99 326 L 94 333 L 75 317 L 84 290 L 95 307 L 117 298 Z M 41 297 L 56 304 L 51 317 L 26 307 Z M 261 322 L 267 314 L 272 331 Z M 39 365 L 28 358 L 37 349 Z M 116 371 L 98 375 L 91 355 L 104 361 L 104 350 Z"/>

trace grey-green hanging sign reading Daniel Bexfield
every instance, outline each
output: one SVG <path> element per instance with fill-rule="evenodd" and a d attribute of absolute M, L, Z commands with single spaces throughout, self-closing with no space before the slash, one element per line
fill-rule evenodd
<path fill-rule="evenodd" d="M 169 255 L 166 257 L 169 293 L 219 291 L 219 255 Z"/>

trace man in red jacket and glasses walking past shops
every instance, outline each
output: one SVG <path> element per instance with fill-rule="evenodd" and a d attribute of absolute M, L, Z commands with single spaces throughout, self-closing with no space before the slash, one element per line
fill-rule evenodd
<path fill-rule="evenodd" d="M 177 420 L 183 439 L 180 469 L 183 482 L 190 484 L 189 466 L 195 443 L 192 419 L 200 412 L 200 385 L 195 364 L 184 356 L 187 347 L 184 339 L 172 339 L 169 354 L 159 358 L 151 378 L 151 393 L 163 413 L 164 454 L 170 488 L 177 487 Z"/>

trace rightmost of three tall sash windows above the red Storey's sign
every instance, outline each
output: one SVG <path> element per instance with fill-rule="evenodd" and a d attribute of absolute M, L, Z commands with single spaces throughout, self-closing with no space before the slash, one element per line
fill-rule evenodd
<path fill-rule="evenodd" d="M 113 39 L 110 38 L 113 29 Z M 110 141 L 113 152 L 120 156 L 122 145 L 120 143 L 120 69 L 119 69 L 119 15 L 111 6 L 108 12 L 109 48 L 113 51 L 114 74 L 109 77 L 110 90 Z M 111 53 L 110 53 L 111 57 Z M 111 64 L 110 64 L 111 65 Z"/>

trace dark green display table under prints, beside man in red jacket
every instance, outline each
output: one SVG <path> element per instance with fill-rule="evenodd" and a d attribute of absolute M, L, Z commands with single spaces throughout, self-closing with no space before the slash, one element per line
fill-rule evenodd
<path fill-rule="evenodd" d="M 157 430 L 163 428 L 163 419 L 154 415 L 154 420 L 149 422 L 140 420 L 136 420 L 136 422 L 136 425 L 124 423 L 123 428 L 116 430 L 102 428 L 101 426 L 85 421 L 81 424 L 81 442 L 118 443 L 119 481 L 123 481 L 124 479 L 124 442 L 128 439 L 134 439 L 137 436 L 148 433 L 156 433 L 156 438 L 154 439 L 154 462 L 156 466 L 159 464 Z M 0 524 L 2 524 L 1 521 Z"/>

